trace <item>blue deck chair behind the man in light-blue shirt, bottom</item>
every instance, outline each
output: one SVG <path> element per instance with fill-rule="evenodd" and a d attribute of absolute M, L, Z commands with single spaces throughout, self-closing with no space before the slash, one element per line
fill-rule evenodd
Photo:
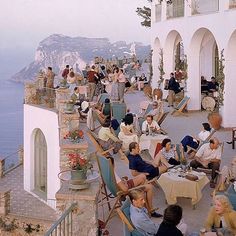
<path fill-rule="evenodd" d="M 117 208 L 117 214 L 123 222 L 124 236 L 142 236 L 142 234 L 134 227 L 130 219 L 130 199 L 127 197 L 122 206 Z"/>

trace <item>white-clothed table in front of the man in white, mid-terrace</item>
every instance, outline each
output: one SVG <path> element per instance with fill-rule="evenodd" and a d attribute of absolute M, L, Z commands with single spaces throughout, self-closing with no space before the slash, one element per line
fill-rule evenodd
<path fill-rule="evenodd" d="M 163 134 L 155 134 L 154 136 L 142 134 L 139 142 L 140 149 L 141 151 L 149 150 L 151 157 L 154 159 L 157 144 L 161 143 L 165 138 L 168 138 L 168 136 Z"/>

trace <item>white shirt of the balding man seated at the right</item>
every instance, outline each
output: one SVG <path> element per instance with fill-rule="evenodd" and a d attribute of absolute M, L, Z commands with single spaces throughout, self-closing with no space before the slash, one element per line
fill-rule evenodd
<path fill-rule="evenodd" d="M 196 156 L 203 158 L 204 160 L 221 160 L 221 146 L 219 146 L 217 149 L 211 149 L 210 143 L 203 144 L 196 153 Z"/>

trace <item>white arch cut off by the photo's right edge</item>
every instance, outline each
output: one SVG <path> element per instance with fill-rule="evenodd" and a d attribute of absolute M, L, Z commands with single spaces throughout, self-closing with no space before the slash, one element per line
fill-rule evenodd
<path fill-rule="evenodd" d="M 225 57 L 225 86 L 224 86 L 224 110 L 223 110 L 223 125 L 224 127 L 236 126 L 236 110 L 232 109 L 232 104 L 235 103 L 235 75 L 236 75 L 236 30 L 232 33 L 226 50 Z"/>

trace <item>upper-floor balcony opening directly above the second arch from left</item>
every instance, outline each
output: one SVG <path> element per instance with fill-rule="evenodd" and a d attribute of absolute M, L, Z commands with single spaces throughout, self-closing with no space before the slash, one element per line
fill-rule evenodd
<path fill-rule="evenodd" d="M 184 1 L 173 0 L 172 4 L 167 4 L 166 18 L 177 18 L 184 16 Z"/>

